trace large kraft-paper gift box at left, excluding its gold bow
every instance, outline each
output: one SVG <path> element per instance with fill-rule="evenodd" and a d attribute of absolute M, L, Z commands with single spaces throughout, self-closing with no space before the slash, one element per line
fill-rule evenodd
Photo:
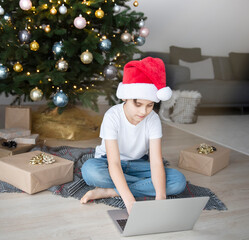
<path fill-rule="evenodd" d="M 74 162 L 51 154 L 52 164 L 30 164 L 30 159 L 42 153 L 34 151 L 0 158 L 0 180 L 26 193 L 33 194 L 73 180 Z"/>

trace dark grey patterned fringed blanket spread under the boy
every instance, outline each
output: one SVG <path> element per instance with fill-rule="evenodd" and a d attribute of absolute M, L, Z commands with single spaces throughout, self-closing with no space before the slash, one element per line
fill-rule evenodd
<path fill-rule="evenodd" d="M 62 157 L 71 161 L 74 161 L 74 180 L 69 183 L 65 183 L 58 186 L 53 186 L 48 189 L 55 195 L 60 195 L 62 197 L 73 197 L 76 199 L 81 199 L 81 197 L 94 187 L 88 186 L 81 176 L 81 166 L 89 158 L 94 157 L 94 148 L 74 148 L 68 146 L 61 147 L 47 147 L 47 146 L 37 146 L 31 151 L 43 151 L 46 153 L 53 154 L 58 157 Z M 0 192 L 22 192 L 22 190 L 6 183 L 0 181 Z M 219 200 L 219 198 L 208 188 L 193 185 L 187 182 L 185 190 L 178 195 L 168 196 L 169 199 L 172 198 L 189 198 L 189 197 L 210 197 L 205 210 L 227 210 L 225 204 Z M 151 200 L 152 197 L 137 198 L 137 201 Z M 109 206 L 125 208 L 124 202 L 121 197 L 106 198 L 94 200 L 95 203 L 104 203 Z"/>

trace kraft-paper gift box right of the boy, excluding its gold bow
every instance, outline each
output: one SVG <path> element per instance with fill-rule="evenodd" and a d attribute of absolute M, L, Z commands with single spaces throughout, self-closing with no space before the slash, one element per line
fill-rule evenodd
<path fill-rule="evenodd" d="M 181 150 L 178 167 L 192 172 L 212 176 L 229 164 L 230 150 L 216 146 L 216 151 L 209 154 L 200 154 L 199 145 Z"/>

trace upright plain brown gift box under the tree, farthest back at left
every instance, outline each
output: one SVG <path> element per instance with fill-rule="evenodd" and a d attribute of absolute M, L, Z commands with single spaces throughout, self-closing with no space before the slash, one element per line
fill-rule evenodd
<path fill-rule="evenodd" d="M 6 107 L 5 128 L 23 128 L 31 130 L 31 108 L 23 106 Z"/>

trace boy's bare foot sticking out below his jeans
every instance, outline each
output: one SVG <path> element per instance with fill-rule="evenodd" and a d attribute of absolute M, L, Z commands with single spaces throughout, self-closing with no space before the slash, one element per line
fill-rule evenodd
<path fill-rule="evenodd" d="M 113 188 L 95 188 L 88 191 L 80 200 L 80 203 L 87 203 L 90 200 L 100 198 L 118 197 L 119 195 Z"/>

